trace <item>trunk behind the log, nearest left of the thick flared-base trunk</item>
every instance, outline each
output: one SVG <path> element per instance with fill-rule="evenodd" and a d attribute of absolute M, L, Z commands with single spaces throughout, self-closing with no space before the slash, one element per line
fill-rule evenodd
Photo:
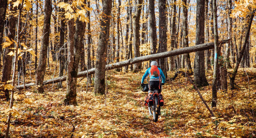
<path fill-rule="evenodd" d="M 187 0 L 183 1 L 183 47 L 188 47 L 188 9 Z M 184 54 L 186 69 L 192 70 L 189 53 Z"/>

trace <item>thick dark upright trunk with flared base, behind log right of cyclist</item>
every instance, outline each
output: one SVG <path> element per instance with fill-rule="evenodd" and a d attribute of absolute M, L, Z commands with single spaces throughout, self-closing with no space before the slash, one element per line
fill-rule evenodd
<path fill-rule="evenodd" d="M 204 43 L 204 29 L 205 29 L 205 0 L 196 1 L 196 40 L 195 44 Z M 205 77 L 205 52 L 195 52 L 194 60 L 194 83 L 196 86 L 209 85 Z"/>

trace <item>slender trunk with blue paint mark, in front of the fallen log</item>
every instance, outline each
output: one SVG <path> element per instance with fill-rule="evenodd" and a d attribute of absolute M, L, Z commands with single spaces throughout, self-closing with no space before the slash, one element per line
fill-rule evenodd
<path fill-rule="evenodd" d="M 212 107 L 217 105 L 217 83 L 219 79 L 219 64 L 218 57 L 220 56 L 219 35 L 217 24 L 217 2 L 213 0 L 213 29 L 214 29 L 214 66 L 213 66 L 213 80 L 212 80 Z"/>

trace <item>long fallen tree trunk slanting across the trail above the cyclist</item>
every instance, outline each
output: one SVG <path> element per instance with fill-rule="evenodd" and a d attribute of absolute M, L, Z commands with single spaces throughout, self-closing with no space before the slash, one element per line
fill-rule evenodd
<path fill-rule="evenodd" d="M 220 44 L 225 44 L 225 43 L 229 42 L 229 40 L 230 39 L 225 39 L 225 40 L 222 40 L 219 42 L 220 42 Z M 167 57 L 172 57 L 175 55 L 180 55 L 180 54 L 185 54 L 185 53 L 191 53 L 191 52 L 202 51 L 202 50 L 210 50 L 213 48 L 214 48 L 214 42 L 199 44 L 199 45 L 195 45 L 195 46 L 191 46 L 191 47 L 179 48 L 179 49 L 172 50 L 172 51 L 167 51 L 167 52 L 162 52 L 162 53 L 157 53 L 157 54 L 152 54 L 152 55 L 145 55 L 142 57 L 132 58 L 132 59 L 118 62 L 118 63 L 109 64 L 109 65 L 106 65 L 106 70 L 112 70 L 114 68 L 119 68 L 119 67 L 131 65 L 131 64 L 135 64 L 135 63 L 139 63 L 139 62 L 143 62 L 143 61 L 167 58 Z M 87 73 L 87 70 L 79 72 L 79 73 L 77 73 L 77 78 L 86 77 L 87 75 L 94 74 L 94 71 L 95 71 L 95 68 L 91 68 L 90 70 L 88 70 L 88 73 Z M 62 77 L 58 77 L 58 78 L 54 78 L 54 79 L 45 80 L 43 85 L 65 81 L 66 77 L 67 76 L 62 76 Z M 31 87 L 33 85 L 35 85 L 35 83 L 29 83 L 29 84 L 26 84 L 25 87 Z M 16 88 L 18 88 L 18 89 L 24 88 L 24 85 L 18 85 L 18 86 L 16 86 Z"/>

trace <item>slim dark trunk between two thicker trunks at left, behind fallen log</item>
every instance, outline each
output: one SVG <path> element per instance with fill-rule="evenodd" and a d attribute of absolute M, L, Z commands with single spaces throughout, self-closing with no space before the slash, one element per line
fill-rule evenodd
<path fill-rule="evenodd" d="M 67 0 L 63 0 L 63 2 L 67 2 Z M 60 63 L 60 67 L 59 67 L 59 77 L 63 76 L 63 71 L 64 71 L 64 49 L 65 49 L 65 45 L 64 45 L 64 39 L 65 39 L 65 18 L 64 18 L 64 9 L 60 9 L 61 11 L 61 26 L 60 26 L 60 45 L 59 45 L 59 49 L 60 52 L 58 53 L 58 59 L 59 59 L 59 63 Z M 53 52 L 53 51 L 52 51 Z M 62 82 L 57 84 L 58 88 L 62 88 Z"/>

